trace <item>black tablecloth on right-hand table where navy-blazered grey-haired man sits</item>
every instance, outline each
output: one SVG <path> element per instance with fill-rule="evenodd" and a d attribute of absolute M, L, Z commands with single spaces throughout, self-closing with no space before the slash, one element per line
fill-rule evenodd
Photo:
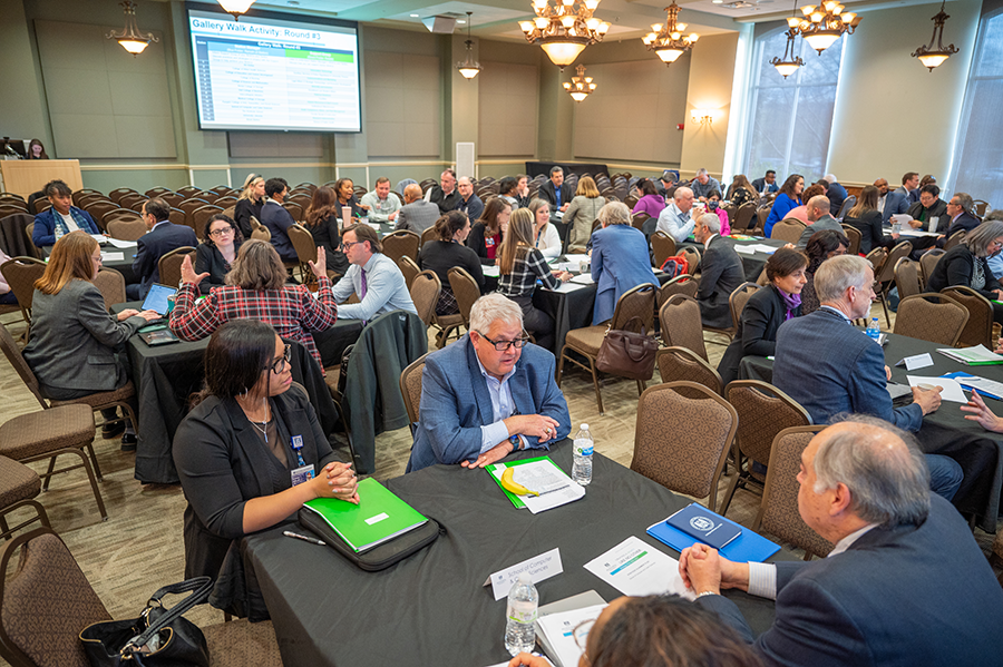
<path fill-rule="evenodd" d="M 892 380 L 908 384 L 906 375 L 939 376 L 964 372 L 996 382 L 1003 382 L 1003 366 L 966 366 L 935 352 L 936 345 L 917 339 L 889 334 L 885 345 L 885 363 L 892 366 Z M 905 366 L 895 364 L 905 356 L 928 352 L 934 365 L 907 373 Z M 742 360 L 739 376 L 743 380 L 773 379 L 773 362 L 765 356 L 747 356 Z M 911 399 L 906 399 L 911 401 Z M 1003 413 L 1003 402 L 985 400 L 996 414 Z M 986 532 L 996 532 L 1000 514 L 1000 494 L 1003 491 L 1003 434 L 991 433 L 964 418 L 958 403 L 944 401 L 936 412 L 923 418 L 923 426 L 916 433 L 919 447 L 929 454 L 946 454 L 957 461 L 965 479 L 954 497 L 958 511 L 975 517 L 976 524 Z"/>

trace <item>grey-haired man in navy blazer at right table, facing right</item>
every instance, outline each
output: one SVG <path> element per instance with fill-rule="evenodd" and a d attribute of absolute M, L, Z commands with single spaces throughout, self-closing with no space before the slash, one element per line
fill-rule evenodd
<path fill-rule="evenodd" d="M 822 262 L 815 273 L 821 306 L 777 330 L 773 384 L 801 404 L 816 424 L 844 412 L 873 414 L 904 431 L 916 432 L 923 415 L 941 405 L 941 388 L 913 388 L 913 402 L 892 406 L 885 354 L 853 320 L 866 317 L 874 298 L 874 271 L 857 255 Z M 931 488 L 947 500 L 961 485 L 961 465 L 947 457 L 927 455 Z"/>

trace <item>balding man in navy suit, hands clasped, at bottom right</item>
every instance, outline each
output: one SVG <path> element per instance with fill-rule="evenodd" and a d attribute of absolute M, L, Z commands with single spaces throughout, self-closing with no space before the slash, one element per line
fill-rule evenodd
<path fill-rule="evenodd" d="M 799 513 L 835 545 L 829 556 L 737 563 L 698 543 L 679 561 L 697 605 L 752 643 L 721 589 L 776 599 L 752 645 L 769 666 L 999 664 L 1003 590 L 962 517 L 926 490 L 908 433 L 874 418 L 829 426 L 802 452 L 798 482 Z"/>

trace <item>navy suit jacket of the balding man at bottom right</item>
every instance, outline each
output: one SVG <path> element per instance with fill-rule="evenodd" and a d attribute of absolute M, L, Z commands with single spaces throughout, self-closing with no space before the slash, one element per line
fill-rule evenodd
<path fill-rule="evenodd" d="M 810 317 L 807 315 L 806 317 Z M 996 665 L 1003 590 L 972 531 L 931 493 L 921 526 L 876 527 L 843 553 L 777 563 L 777 616 L 752 648 L 767 665 Z M 722 596 L 697 604 L 752 641 Z"/>

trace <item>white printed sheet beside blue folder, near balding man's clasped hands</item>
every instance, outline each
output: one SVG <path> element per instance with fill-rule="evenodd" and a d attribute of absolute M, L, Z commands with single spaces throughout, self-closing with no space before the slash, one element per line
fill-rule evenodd
<path fill-rule="evenodd" d="M 585 569 L 625 596 L 669 592 L 688 600 L 697 599 L 679 576 L 679 561 L 636 536 L 586 562 Z"/>

